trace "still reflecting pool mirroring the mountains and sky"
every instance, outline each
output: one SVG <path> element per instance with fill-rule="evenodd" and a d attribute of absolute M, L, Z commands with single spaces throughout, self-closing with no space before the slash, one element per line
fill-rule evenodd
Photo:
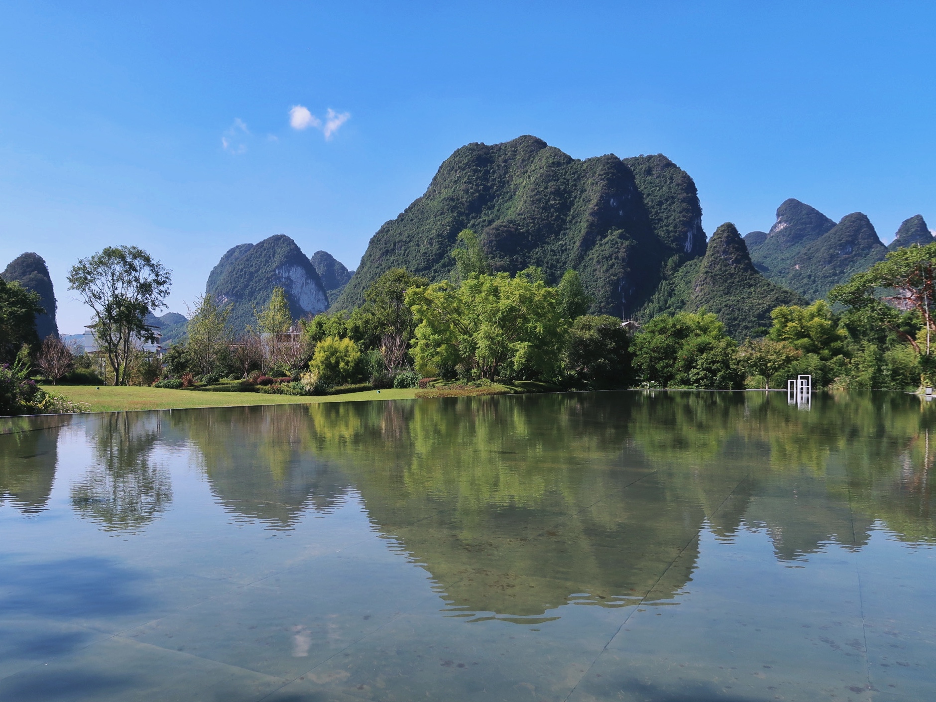
<path fill-rule="evenodd" d="M 936 402 L 0 420 L 0 700 L 936 698 Z"/>

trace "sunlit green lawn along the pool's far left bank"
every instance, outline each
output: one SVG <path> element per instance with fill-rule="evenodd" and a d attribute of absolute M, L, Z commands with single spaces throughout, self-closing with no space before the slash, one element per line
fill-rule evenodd
<path fill-rule="evenodd" d="M 187 407 L 237 407 L 244 404 L 296 404 L 308 402 L 360 402 L 362 400 L 409 400 L 415 389 L 390 388 L 349 392 L 346 395 L 302 397 L 298 395 L 267 395 L 259 392 L 195 392 L 165 388 L 100 389 L 88 385 L 43 386 L 44 390 L 73 402 L 87 402 L 91 412 L 124 412 L 127 410 L 183 409 Z"/>

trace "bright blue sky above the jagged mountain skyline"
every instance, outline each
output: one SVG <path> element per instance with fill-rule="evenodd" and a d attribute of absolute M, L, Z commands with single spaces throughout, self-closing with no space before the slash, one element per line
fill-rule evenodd
<path fill-rule="evenodd" d="M 137 244 L 184 313 L 244 241 L 356 267 L 448 154 L 521 134 L 668 155 L 709 234 L 797 197 L 889 241 L 916 213 L 936 227 L 934 20 L 924 2 L 0 1 L 0 268 L 44 256 L 71 333 L 88 314 L 68 267 Z"/>

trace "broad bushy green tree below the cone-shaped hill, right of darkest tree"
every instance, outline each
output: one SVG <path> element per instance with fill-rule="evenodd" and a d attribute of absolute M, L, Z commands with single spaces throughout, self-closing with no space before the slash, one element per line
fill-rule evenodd
<path fill-rule="evenodd" d="M 653 317 L 631 345 L 643 380 L 667 388 L 739 388 L 738 344 L 714 314 L 680 312 Z"/>

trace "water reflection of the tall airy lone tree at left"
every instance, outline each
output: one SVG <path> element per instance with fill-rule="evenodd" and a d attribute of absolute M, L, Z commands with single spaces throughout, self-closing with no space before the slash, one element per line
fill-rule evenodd
<path fill-rule="evenodd" d="M 137 531 L 172 501 L 168 469 L 154 460 L 161 416 L 110 413 L 86 425 L 95 463 L 71 488 L 71 503 L 105 531 Z"/>

